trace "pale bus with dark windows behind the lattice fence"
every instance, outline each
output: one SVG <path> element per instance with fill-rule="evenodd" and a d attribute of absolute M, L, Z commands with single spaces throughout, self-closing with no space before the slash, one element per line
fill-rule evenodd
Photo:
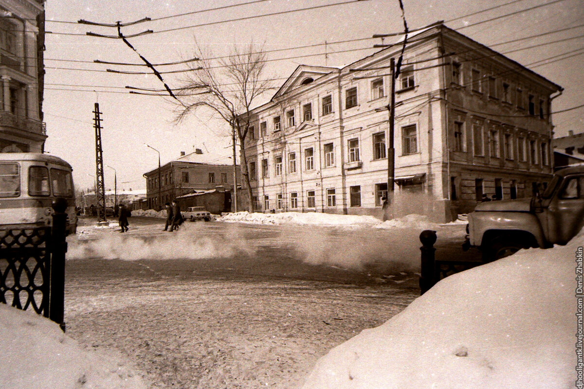
<path fill-rule="evenodd" d="M 43 153 L 0 153 L 0 228 L 53 223 L 51 203 L 67 200 L 67 232 L 77 231 L 71 165 Z"/>

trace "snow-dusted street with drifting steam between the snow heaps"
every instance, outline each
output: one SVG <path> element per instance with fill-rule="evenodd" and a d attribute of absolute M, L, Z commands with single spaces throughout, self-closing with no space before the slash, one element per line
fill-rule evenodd
<path fill-rule="evenodd" d="M 69 239 L 67 334 L 122 355 L 154 388 L 299 387 L 329 349 L 419 295 L 419 232 L 388 250 L 391 230 L 187 222 L 169 233 L 130 218 L 120 234 L 94 222 Z"/>

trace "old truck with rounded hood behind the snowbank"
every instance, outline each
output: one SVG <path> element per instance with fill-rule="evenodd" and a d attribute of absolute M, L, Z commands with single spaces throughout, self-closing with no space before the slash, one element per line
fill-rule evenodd
<path fill-rule="evenodd" d="M 463 249 L 477 247 L 485 262 L 521 248 L 568 243 L 584 227 L 584 165 L 558 170 L 532 198 L 481 202 L 468 214 Z"/>

